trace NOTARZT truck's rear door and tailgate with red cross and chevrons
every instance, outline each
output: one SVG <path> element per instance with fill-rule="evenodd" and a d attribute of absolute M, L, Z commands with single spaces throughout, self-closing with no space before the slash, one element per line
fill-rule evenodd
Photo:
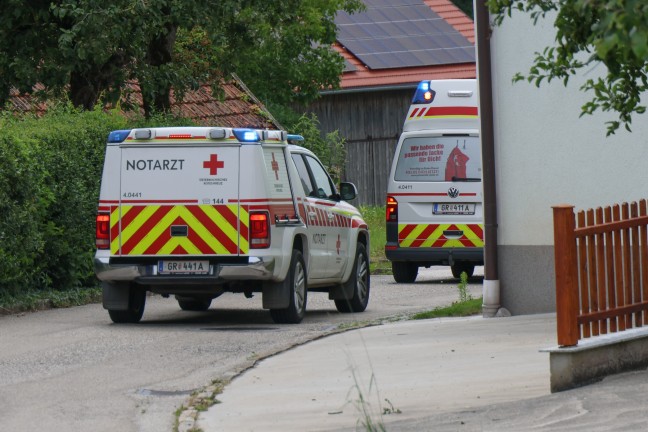
<path fill-rule="evenodd" d="M 156 136 L 120 145 L 120 198 L 111 208 L 111 255 L 248 253 L 239 206 L 238 143 Z"/>

